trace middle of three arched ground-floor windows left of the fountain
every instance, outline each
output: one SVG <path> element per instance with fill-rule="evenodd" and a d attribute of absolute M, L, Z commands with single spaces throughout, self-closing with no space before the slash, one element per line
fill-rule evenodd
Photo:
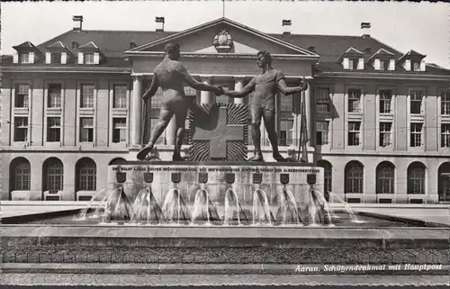
<path fill-rule="evenodd" d="M 47 158 L 42 165 L 43 191 L 64 189 L 64 166 L 58 158 Z"/>

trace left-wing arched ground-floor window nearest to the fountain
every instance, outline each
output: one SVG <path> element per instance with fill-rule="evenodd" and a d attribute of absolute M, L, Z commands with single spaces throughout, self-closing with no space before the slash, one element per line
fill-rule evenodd
<path fill-rule="evenodd" d="M 76 192 L 95 191 L 97 186 L 97 167 L 92 158 L 81 158 L 76 162 Z"/>

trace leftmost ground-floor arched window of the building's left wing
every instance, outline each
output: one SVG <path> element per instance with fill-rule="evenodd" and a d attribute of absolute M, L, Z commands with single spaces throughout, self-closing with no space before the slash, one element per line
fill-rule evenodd
<path fill-rule="evenodd" d="M 9 167 L 10 192 L 31 190 L 31 166 L 26 158 L 14 158 Z"/>

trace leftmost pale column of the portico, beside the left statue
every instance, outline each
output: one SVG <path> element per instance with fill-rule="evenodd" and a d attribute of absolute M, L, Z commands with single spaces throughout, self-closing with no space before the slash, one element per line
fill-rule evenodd
<path fill-rule="evenodd" d="M 133 76 L 133 95 L 130 110 L 130 145 L 140 146 L 140 122 L 142 112 L 142 77 Z"/>

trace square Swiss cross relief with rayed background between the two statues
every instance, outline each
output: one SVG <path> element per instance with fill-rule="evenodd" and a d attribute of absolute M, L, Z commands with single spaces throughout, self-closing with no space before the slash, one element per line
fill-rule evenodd
<path fill-rule="evenodd" d="M 191 161 L 247 159 L 247 105 L 196 104 L 189 118 Z"/>

